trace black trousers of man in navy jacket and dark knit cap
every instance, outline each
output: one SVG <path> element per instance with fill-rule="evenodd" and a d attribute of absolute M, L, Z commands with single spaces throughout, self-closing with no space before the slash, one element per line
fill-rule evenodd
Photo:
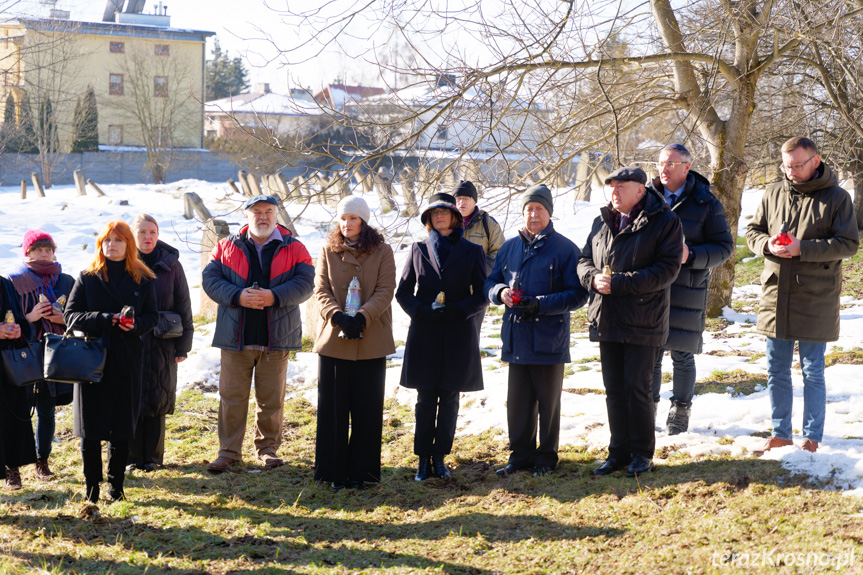
<path fill-rule="evenodd" d="M 554 468 L 557 465 L 562 390 L 562 363 L 509 364 L 506 423 L 512 450 L 509 462 L 514 467 L 545 465 Z"/>

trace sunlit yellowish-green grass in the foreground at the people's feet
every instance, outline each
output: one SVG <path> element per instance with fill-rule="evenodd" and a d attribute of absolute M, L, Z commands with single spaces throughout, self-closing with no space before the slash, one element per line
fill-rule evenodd
<path fill-rule="evenodd" d="M 759 382 L 744 375 L 712 374 L 699 391 L 748 393 Z M 286 404 L 285 467 L 211 476 L 217 409 L 215 398 L 181 394 L 168 465 L 129 474 L 129 500 L 98 507 L 83 500 L 71 410 L 62 412 L 58 479 L 39 483 L 31 467 L 24 490 L 0 493 L 0 575 L 863 572 L 863 500 L 775 461 L 671 448 L 639 480 L 591 479 L 606 454 L 564 448 L 551 476 L 501 480 L 493 471 L 506 443 L 489 432 L 457 439 L 452 480 L 420 484 L 412 410 L 389 400 L 383 481 L 334 492 L 312 481 L 307 401 Z"/>

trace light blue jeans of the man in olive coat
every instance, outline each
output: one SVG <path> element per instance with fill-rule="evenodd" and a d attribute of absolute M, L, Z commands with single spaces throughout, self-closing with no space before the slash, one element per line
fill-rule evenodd
<path fill-rule="evenodd" d="M 824 434 L 824 411 L 827 386 L 824 381 L 826 343 L 799 342 L 800 365 L 803 368 L 803 437 L 821 442 Z M 773 418 L 773 435 L 791 439 L 791 361 L 794 342 L 767 338 L 767 392 Z"/>

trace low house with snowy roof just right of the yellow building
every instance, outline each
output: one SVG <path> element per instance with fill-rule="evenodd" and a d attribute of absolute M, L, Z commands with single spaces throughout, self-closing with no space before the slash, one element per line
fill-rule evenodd
<path fill-rule="evenodd" d="M 282 135 L 305 132 L 318 125 L 321 116 L 320 106 L 307 92 L 294 89 L 290 95 L 274 94 L 269 84 L 258 84 L 252 92 L 207 102 L 204 130 L 208 138 L 262 129 Z"/>

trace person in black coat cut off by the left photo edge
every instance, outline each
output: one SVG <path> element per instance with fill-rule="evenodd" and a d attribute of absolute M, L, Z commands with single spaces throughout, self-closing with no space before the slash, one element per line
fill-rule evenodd
<path fill-rule="evenodd" d="M 0 323 L 0 349 L 17 349 L 26 345 L 30 337 L 30 324 L 24 318 L 15 286 L 0 277 L 0 319 L 5 320 L 11 311 L 14 322 Z M 36 440 L 30 420 L 30 402 L 27 389 L 5 381 L 0 369 L 0 473 L 6 478 L 6 489 L 21 489 L 22 465 L 36 463 Z"/>

